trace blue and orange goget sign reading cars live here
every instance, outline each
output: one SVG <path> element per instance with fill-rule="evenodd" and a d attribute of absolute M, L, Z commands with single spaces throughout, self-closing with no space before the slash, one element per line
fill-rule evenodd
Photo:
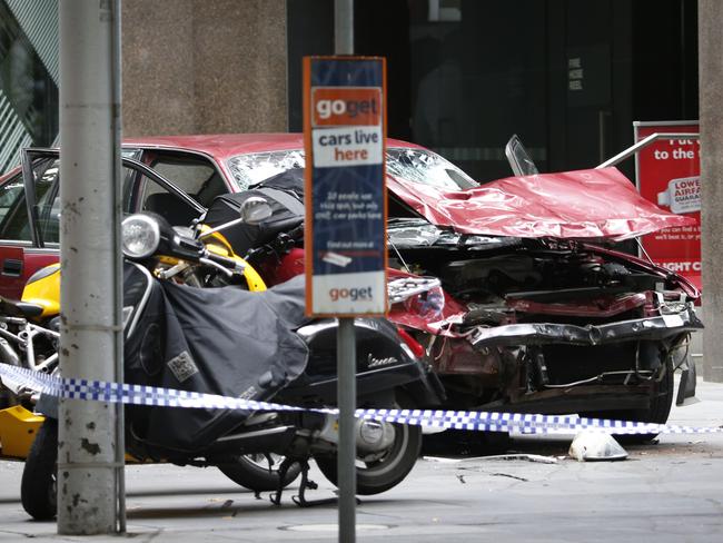
<path fill-rule="evenodd" d="M 385 315 L 386 66 L 304 59 L 306 312 Z"/>

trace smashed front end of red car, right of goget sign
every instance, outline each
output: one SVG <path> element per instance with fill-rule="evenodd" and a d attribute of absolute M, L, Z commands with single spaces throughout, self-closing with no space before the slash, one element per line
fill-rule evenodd
<path fill-rule="evenodd" d="M 389 319 L 449 407 L 664 423 L 675 368 L 679 403 L 694 394 L 700 293 L 610 246 L 691 219 L 615 168 L 541 175 L 518 151 L 529 175 L 479 186 L 427 150 L 389 149 Z"/>

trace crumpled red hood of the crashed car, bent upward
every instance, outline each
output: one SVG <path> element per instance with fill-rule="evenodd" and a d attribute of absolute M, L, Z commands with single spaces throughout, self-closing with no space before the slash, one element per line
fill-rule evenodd
<path fill-rule="evenodd" d="M 463 234 L 622 240 L 695 224 L 641 197 L 617 168 L 508 177 L 458 191 L 394 177 L 387 187 L 432 224 Z"/>

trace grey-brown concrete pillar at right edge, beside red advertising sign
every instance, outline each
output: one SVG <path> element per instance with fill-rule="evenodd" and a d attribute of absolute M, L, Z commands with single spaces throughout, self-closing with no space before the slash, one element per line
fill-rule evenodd
<path fill-rule="evenodd" d="M 723 2 L 699 0 L 703 237 L 703 378 L 723 383 Z"/>

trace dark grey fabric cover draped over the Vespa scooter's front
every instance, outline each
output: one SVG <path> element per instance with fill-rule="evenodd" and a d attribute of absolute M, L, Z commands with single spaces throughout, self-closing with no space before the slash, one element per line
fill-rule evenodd
<path fill-rule="evenodd" d="M 146 280 L 151 294 L 125 344 L 126 383 L 265 401 L 304 372 L 308 349 L 294 332 L 307 320 L 303 277 L 263 293 Z M 247 416 L 133 406 L 127 425 L 155 448 L 188 453 L 208 448 Z"/>

